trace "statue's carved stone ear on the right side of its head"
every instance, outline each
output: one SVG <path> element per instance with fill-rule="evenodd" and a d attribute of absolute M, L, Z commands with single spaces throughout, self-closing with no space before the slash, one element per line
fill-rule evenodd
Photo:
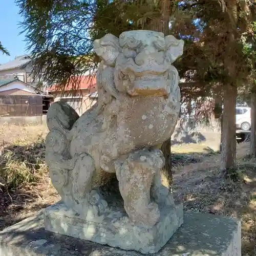
<path fill-rule="evenodd" d="M 183 54 L 184 41 L 176 39 L 173 35 L 165 36 L 165 57 L 173 63 Z"/>

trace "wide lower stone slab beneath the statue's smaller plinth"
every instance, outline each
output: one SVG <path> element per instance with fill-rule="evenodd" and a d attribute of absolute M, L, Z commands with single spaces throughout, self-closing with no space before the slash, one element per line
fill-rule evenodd
<path fill-rule="evenodd" d="M 46 231 L 43 214 L 0 232 L 1 256 L 140 256 Z M 155 256 L 241 256 L 241 224 L 236 219 L 185 212 L 184 224 Z"/>

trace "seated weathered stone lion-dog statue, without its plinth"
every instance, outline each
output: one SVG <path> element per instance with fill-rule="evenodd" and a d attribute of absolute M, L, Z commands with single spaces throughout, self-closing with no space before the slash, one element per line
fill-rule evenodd
<path fill-rule="evenodd" d="M 183 41 L 154 31 L 107 34 L 94 42 L 102 58 L 98 102 L 80 117 L 64 102 L 47 114 L 46 162 L 54 187 L 79 215 L 101 215 L 108 204 L 97 189 L 115 173 L 129 219 L 153 226 L 159 205 L 173 204 L 161 184 L 156 146 L 172 135 L 180 112 L 179 75 L 172 63 Z"/>

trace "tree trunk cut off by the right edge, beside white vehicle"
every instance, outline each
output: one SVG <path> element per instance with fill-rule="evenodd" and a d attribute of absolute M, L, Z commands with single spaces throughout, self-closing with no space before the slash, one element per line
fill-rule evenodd
<path fill-rule="evenodd" d="M 256 158 L 256 94 L 251 98 L 251 137 L 250 137 L 250 157 Z"/>

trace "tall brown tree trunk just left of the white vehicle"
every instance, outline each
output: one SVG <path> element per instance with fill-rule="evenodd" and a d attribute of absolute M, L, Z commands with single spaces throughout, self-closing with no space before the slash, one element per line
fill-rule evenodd
<path fill-rule="evenodd" d="M 221 169 L 229 176 L 236 163 L 236 103 L 237 103 L 237 0 L 223 2 L 227 11 L 227 42 L 225 47 L 224 67 L 230 82 L 223 84 L 223 119 L 222 119 L 222 151 Z M 231 176 L 230 176 L 231 177 Z"/>

